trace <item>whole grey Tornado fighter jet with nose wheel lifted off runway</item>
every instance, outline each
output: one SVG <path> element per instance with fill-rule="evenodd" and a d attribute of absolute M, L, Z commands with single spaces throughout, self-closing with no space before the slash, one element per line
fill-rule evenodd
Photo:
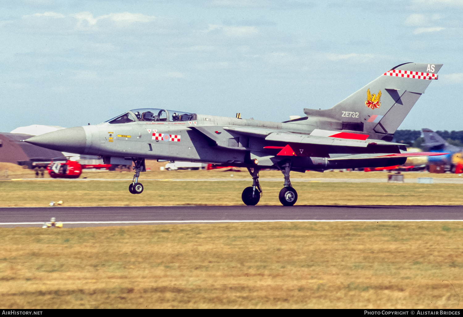
<path fill-rule="evenodd" d="M 134 162 L 129 186 L 138 182 L 145 159 L 246 167 L 253 184 L 241 195 L 246 205 L 262 197 L 261 169 L 284 176 L 280 202 L 292 206 L 297 192 L 290 171 L 401 165 L 408 157 L 442 155 L 407 152 L 393 143 L 395 130 L 442 64 L 404 63 L 388 70 L 331 109 L 304 109 L 305 117 L 284 122 L 219 117 L 167 109 L 133 109 L 98 125 L 71 127 L 24 140 L 48 149 L 99 155 L 105 164 Z"/>

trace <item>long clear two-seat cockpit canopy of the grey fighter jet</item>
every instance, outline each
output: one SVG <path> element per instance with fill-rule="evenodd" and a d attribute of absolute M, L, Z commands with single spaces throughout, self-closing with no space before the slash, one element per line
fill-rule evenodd
<path fill-rule="evenodd" d="M 187 112 L 165 110 L 165 109 L 133 109 L 125 114 L 121 114 L 113 119 L 109 119 L 105 122 L 110 124 L 114 123 L 129 123 L 136 121 L 193 121 L 196 120 L 196 114 L 190 114 Z"/>

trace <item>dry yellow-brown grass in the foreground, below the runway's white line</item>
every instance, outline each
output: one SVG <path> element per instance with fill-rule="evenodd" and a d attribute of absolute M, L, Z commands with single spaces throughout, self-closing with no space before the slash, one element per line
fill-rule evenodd
<path fill-rule="evenodd" d="M 459 308 L 461 222 L 1 228 L 4 308 Z"/>

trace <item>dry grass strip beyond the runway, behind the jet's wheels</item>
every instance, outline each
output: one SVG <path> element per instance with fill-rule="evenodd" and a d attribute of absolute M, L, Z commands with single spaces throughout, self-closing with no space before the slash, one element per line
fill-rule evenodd
<path fill-rule="evenodd" d="M 132 195 L 130 181 L 0 181 L 0 207 L 243 205 L 243 181 L 143 181 L 144 192 Z M 280 205 L 283 182 L 262 182 L 259 205 Z M 463 184 L 294 183 L 297 205 L 461 205 Z"/>

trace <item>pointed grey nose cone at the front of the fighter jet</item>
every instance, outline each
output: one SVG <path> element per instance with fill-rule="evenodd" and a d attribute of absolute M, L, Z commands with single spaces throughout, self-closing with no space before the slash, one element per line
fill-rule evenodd
<path fill-rule="evenodd" d="M 83 154 L 87 135 L 83 127 L 72 127 L 36 135 L 24 141 L 51 150 Z"/>

